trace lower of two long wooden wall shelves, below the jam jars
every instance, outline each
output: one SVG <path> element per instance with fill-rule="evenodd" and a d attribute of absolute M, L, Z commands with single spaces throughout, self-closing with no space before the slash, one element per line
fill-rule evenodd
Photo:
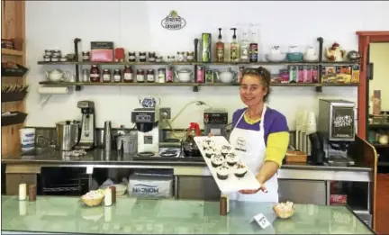
<path fill-rule="evenodd" d="M 39 83 L 45 86 L 239 86 L 231 83 L 85 83 L 85 82 L 50 82 Z M 274 83 L 270 86 L 358 86 L 358 84 L 320 84 L 320 83 Z"/>

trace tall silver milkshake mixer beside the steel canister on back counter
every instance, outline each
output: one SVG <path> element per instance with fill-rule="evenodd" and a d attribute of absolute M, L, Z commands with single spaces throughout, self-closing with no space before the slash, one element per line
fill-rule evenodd
<path fill-rule="evenodd" d="M 95 147 L 95 103 L 93 101 L 78 101 L 77 107 L 81 109 L 81 134 L 75 149 L 93 149 Z"/>

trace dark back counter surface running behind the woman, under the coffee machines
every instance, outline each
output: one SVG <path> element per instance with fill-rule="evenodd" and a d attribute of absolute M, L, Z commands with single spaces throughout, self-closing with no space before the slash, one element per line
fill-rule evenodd
<path fill-rule="evenodd" d="M 93 149 L 85 156 L 69 157 L 65 151 L 54 149 L 41 151 L 39 154 L 33 152 L 28 155 L 3 156 L 4 164 L 50 164 L 50 165 L 146 165 L 166 167 L 206 167 L 204 159 L 197 158 L 137 158 L 131 154 L 120 154 L 116 151 L 106 152 L 104 149 Z M 330 167 L 315 166 L 309 163 L 295 164 L 285 163 L 281 169 L 305 169 L 305 170 L 342 170 L 353 172 L 371 172 L 373 169 L 365 166 L 351 167 Z"/>

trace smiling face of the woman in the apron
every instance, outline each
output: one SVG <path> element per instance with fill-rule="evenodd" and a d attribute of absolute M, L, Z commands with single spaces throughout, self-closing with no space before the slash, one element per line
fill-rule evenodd
<path fill-rule="evenodd" d="M 267 95 L 267 87 L 263 86 L 262 77 L 257 75 L 245 75 L 240 83 L 240 98 L 248 106 L 263 103 L 263 98 Z"/>

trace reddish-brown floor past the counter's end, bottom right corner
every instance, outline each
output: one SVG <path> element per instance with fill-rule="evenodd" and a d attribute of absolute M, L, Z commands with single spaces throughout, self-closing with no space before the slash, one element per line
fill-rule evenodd
<path fill-rule="evenodd" d="M 378 234 L 389 234 L 389 174 L 377 175 L 376 228 Z"/>

